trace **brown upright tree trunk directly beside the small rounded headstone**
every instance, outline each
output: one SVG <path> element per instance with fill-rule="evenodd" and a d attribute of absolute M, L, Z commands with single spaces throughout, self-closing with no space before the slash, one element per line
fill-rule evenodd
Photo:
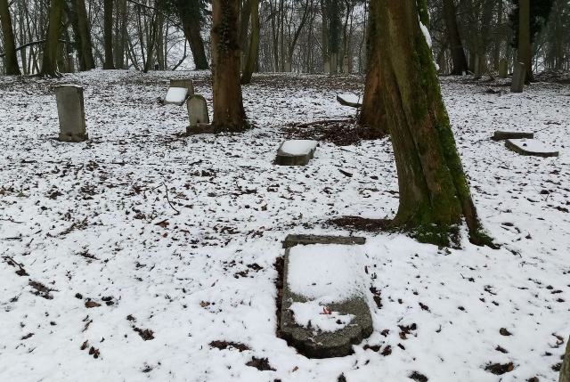
<path fill-rule="evenodd" d="M 212 1 L 212 123 L 239 132 L 247 121 L 241 98 L 238 15 L 238 0 Z"/>

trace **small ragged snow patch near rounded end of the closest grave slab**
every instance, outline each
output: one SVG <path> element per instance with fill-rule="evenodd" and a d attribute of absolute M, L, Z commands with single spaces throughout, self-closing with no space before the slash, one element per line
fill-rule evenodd
<path fill-rule="evenodd" d="M 330 311 L 326 305 L 316 300 L 293 303 L 289 309 L 293 311 L 293 317 L 297 324 L 304 328 L 309 328 L 310 325 L 314 329 L 314 333 L 338 331 L 345 328 L 354 319 L 354 314 Z"/>

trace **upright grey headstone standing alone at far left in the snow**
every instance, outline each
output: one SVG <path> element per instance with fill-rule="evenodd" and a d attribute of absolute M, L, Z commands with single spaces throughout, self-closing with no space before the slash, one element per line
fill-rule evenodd
<path fill-rule="evenodd" d="M 60 119 L 61 142 L 83 142 L 88 139 L 85 133 L 85 106 L 83 87 L 61 85 L 55 88 L 57 115 Z"/>

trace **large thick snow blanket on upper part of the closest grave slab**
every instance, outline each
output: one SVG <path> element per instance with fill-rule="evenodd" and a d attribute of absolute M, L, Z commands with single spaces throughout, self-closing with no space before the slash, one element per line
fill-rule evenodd
<path fill-rule="evenodd" d="M 364 296 L 361 246 L 296 246 L 289 250 L 287 282 L 291 292 L 321 304 Z"/>

